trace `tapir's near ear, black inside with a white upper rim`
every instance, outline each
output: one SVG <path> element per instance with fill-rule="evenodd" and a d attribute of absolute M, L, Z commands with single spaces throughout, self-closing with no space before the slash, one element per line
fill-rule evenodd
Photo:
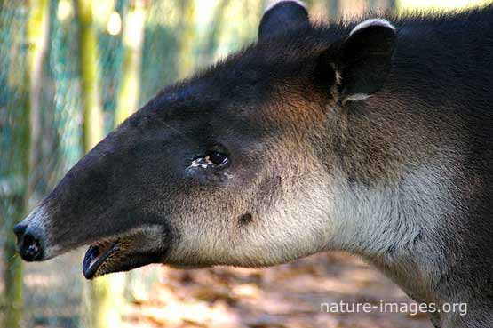
<path fill-rule="evenodd" d="M 388 21 L 365 20 L 329 50 L 342 102 L 364 100 L 382 88 L 392 68 L 396 36 Z"/>

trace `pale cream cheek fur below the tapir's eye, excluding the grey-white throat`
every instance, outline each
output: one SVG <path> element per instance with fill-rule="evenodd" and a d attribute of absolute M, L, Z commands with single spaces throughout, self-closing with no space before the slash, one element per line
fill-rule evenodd
<path fill-rule="evenodd" d="M 296 166 L 303 159 L 290 158 Z M 179 265 L 228 264 L 268 266 L 320 252 L 333 234 L 326 191 L 328 176 L 322 167 L 299 172 L 273 156 L 264 177 L 282 172 L 282 182 L 268 196 L 258 197 L 258 186 L 249 181 L 241 195 L 221 194 L 225 199 L 203 199 L 191 203 L 188 211 L 173 220 L 179 229 L 179 243 L 168 260 Z M 219 204 L 219 205 L 218 205 Z M 241 224 L 245 212 L 251 222 Z M 206 216 L 203 214 L 207 213 Z"/>

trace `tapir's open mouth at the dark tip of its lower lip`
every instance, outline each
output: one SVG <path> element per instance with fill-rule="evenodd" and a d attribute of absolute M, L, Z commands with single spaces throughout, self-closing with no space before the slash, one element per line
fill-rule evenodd
<path fill-rule="evenodd" d="M 119 239 L 105 240 L 92 243 L 83 257 L 83 276 L 92 279 L 99 268 L 120 250 Z"/>

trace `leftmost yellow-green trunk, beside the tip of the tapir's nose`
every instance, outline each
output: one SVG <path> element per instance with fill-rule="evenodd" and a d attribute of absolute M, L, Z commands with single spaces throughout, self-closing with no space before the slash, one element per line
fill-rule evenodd
<path fill-rule="evenodd" d="M 28 210 L 28 200 L 33 188 L 29 185 L 32 162 L 36 160 L 36 145 L 33 137 L 39 136 L 39 98 L 41 73 L 44 60 L 44 48 L 48 35 L 49 0 L 32 1 L 28 7 L 26 62 L 12 59 L 10 74 L 23 76 L 12 79 L 8 85 L 12 90 L 12 100 L 7 103 L 7 113 L 15 115 L 15 132 L 12 132 L 11 154 L 5 154 L 9 172 L 5 176 L 12 178 L 12 194 L 2 199 L 6 238 L 4 241 L 4 327 L 18 328 L 22 318 L 22 262 L 15 251 L 15 237 L 12 228 L 24 218 Z M 21 40 L 16 39 L 12 48 L 20 50 Z M 25 67 L 22 67 L 25 66 Z M 15 72 L 15 73 L 13 73 Z M 6 73 L 6 72 L 5 72 Z M 17 97 L 16 97 L 17 96 Z"/>

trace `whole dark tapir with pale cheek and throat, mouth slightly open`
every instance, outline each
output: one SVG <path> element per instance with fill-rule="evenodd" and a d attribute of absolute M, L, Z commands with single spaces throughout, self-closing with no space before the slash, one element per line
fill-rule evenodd
<path fill-rule="evenodd" d="M 14 228 L 24 260 L 89 245 L 83 275 L 360 255 L 413 299 L 493 327 L 493 6 L 314 24 L 163 89 Z"/>

